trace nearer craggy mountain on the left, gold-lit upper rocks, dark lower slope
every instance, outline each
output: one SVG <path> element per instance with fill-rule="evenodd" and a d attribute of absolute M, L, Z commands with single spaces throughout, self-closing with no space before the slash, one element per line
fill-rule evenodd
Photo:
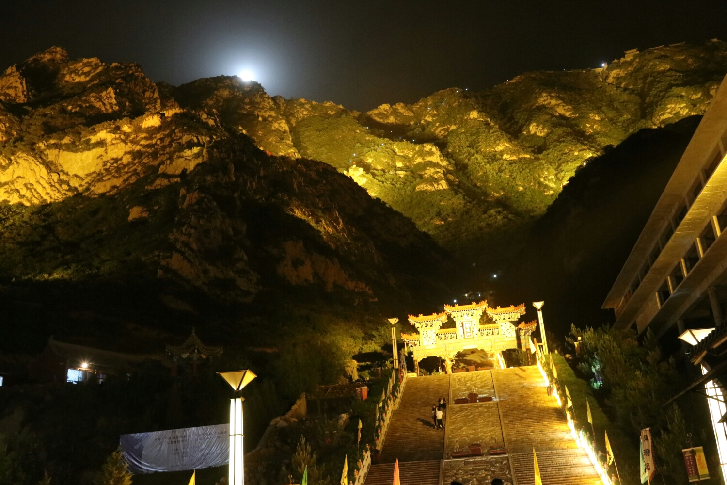
<path fill-rule="evenodd" d="M 249 99 L 270 103 L 258 118 L 278 109 L 258 84 L 196 87 L 179 90 L 180 108 L 177 90 L 137 65 L 68 60 L 57 47 L 0 77 L 6 301 L 36 284 L 71 285 L 81 301 L 113 281 L 126 285 L 113 305 L 136 286 L 152 292 L 147 303 L 209 320 L 220 304 L 335 295 L 390 308 L 446 291 L 448 256 L 410 220 L 292 145 L 292 156 L 272 156 L 244 135 L 261 123 Z M 265 140 L 280 153 L 290 136 L 278 124 Z"/>

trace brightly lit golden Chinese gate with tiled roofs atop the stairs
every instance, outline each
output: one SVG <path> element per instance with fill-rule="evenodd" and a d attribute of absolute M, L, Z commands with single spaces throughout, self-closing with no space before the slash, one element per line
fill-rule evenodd
<path fill-rule="evenodd" d="M 483 313 L 486 313 L 484 318 Z M 479 349 L 502 356 L 502 350 L 529 349 L 530 334 L 537 324 L 532 321 L 518 325 L 517 321 L 524 313 L 524 303 L 506 308 L 489 308 L 486 300 L 470 305 L 444 305 L 442 313 L 409 315 L 409 323 L 419 333 L 401 334 L 401 338 L 414 353 L 417 369 L 423 358 L 435 356 L 444 359 L 449 373 L 452 359 L 462 350 Z M 441 328 L 450 316 L 454 328 Z"/>

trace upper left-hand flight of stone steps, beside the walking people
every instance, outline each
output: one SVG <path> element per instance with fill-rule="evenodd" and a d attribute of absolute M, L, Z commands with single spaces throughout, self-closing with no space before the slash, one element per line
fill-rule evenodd
<path fill-rule="evenodd" d="M 398 459 L 401 465 L 442 459 L 444 431 L 436 430 L 432 420 L 432 405 L 440 396 L 449 398 L 449 375 L 414 377 L 406 381 L 401 404 L 393 412 L 386 433 L 382 463 Z M 446 425 L 446 412 L 444 422 Z M 368 478 L 366 484 L 369 485 Z"/>

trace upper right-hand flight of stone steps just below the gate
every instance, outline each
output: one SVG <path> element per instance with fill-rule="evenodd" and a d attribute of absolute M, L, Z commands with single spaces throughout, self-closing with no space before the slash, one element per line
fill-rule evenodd
<path fill-rule="evenodd" d="M 547 396 L 536 366 L 494 371 L 502 425 L 510 453 L 575 449 L 566 417 Z"/>

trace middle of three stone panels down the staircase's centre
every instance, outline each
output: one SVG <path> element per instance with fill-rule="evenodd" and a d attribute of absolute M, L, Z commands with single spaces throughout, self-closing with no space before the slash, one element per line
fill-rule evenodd
<path fill-rule="evenodd" d="M 447 411 L 446 458 L 473 443 L 481 444 L 483 453 L 490 446 L 505 443 L 496 402 L 452 405 Z"/>

